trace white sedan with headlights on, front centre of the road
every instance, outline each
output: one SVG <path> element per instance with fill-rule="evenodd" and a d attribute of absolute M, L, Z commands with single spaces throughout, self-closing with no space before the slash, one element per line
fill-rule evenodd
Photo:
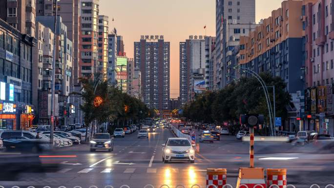
<path fill-rule="evenodd" d="M 190 161 L 195 162 L 195 150 L 186 138 L 169 138 L 166 144 L 161 145 L 162 160 L 164 163 L 171 161 Z"/>

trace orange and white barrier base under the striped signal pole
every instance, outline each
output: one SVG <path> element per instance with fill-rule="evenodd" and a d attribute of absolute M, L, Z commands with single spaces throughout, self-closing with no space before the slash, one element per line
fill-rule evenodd
<path fill-rule="evenodd" d="M 236 188 L 266 188 L 263 168 L 239 168 Z"/>

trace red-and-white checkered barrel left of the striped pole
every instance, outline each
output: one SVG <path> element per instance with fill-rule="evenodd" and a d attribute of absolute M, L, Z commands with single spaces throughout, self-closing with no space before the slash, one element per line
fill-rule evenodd
<path fill-rule="evenodd" d="M 223 188 L 226 185 L 226 168 L 207 168 L 206 188 Z"/>

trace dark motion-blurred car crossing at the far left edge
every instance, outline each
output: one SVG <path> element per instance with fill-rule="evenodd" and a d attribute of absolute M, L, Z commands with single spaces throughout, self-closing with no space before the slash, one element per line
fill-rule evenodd
<path fill-rule="evenodd" d="M 29 139 L 23 136 L 10 136 L 2 139 L 6 151 L 40 153 L 51 149 L 47 140 Z"/>

